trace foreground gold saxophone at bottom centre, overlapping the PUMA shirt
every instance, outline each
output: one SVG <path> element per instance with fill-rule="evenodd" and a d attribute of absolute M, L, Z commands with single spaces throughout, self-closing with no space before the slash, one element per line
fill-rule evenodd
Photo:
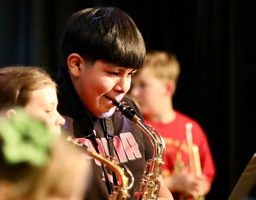
<path fill-rule="evenodd" d="M 90 148 L 83 145 L 79 140 L 73 139 L 70 136 L 68 136 L 67 139 L 75 143 L 76 145 L 84 148 L 87 155 L 97 159 L 101 163 L 105 164 L 114 173 L 116 173 L 118 179 L 118 186 L 114 186 L 116 188 L 116 191 L 113 191 L 113 194 L 109 195 L 108 200 L 126 200 L 127 198 L 130 198 L 131 195 L 128 194 L 128 190 L 133 187 L 134 177 L 131 171 L 125 165 L 123 165 L 123 167 L 125 168 L 126 173 L 122 170 L 122 167 L 114 163 L 114 158 L 110 157 L 110 160 L 108 160 L 104 156 L 92 151 Z M 129 176 L 131 177 L 130 185 L 128 185 Z"/>

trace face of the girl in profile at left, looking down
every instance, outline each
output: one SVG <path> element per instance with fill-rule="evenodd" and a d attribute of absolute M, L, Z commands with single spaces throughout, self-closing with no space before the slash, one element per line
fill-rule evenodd
<path fill-rule="evenodd" d="M 32 116 L 45 121 L 51 131 L 60 134 L 60 127 L 64 125 L 65 119 L 58 113 L 57 105 L 56 88 L 52 85 L 46 85 L 32 91 L 25 109 Z"/>

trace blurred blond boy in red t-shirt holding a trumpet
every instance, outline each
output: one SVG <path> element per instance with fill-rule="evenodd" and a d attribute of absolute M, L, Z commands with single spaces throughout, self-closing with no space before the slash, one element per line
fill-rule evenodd
<path fill-rule="evenodd" d="M 180 66 L 174 54 L 156 50 L 148 52 L 144 68 L 132 78 L 130 95 L 137 101 L 146 124 L 156 129 L 165 140 L 162 176 L 174 199 L 180 195 L 197 198 L 209 193 L 216 169 L 201 126 L 173 109 L 172 97 L 179 74 Z M 189 151 L 192 149 L 188 148 L 188 142 L 199 148 L 200 161 L 196 162 L 201 164 L 201 174 L 189 167 Z M 183 166 L 175 169 L 179 161 Z"/>

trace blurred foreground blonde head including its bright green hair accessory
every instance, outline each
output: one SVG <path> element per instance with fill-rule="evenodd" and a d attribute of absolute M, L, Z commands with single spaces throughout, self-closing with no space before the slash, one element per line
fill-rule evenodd
<path fill-rule="evenodd" d="M 83 165 L 82 148 L 24 108 L 15 110 L 10 118 L 0 117 L 0 199 L 81 199 L 90 169 Z"/>

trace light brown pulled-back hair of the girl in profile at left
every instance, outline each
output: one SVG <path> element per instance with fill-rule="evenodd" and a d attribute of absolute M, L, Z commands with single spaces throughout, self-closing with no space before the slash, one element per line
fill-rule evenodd
<path fill-rule="evenodd" d="M 33 90 L 46 85 L 56 86 L 42 68 L 8 66 L 0 69 L 0 108 L 26 106 Z"/>

